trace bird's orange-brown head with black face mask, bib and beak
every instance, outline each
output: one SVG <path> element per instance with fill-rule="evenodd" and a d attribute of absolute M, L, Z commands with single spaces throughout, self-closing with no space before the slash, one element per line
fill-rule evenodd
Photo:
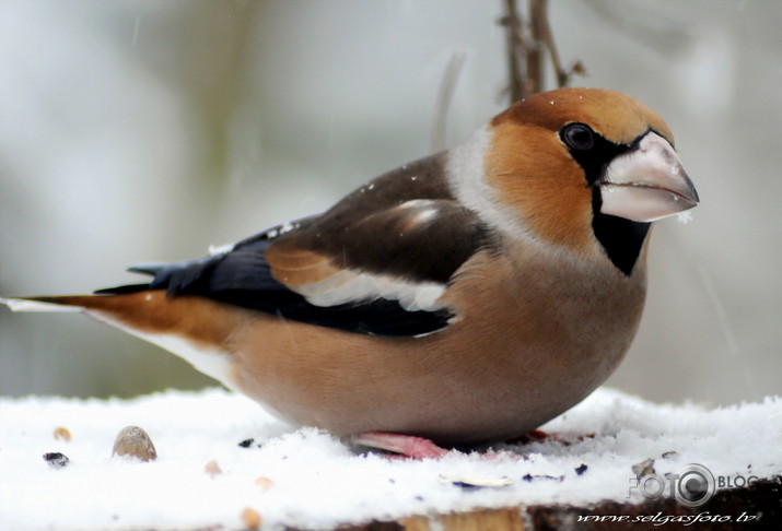
<path fill-rule="evenodd" d="M 650 223 L 699 201 L 668 126 L 618 92 L 536 94 L 497 116 L 488 137 L 483 179 L 503 215 L 545 243 L 600 249 L 626 274 Z"/>

